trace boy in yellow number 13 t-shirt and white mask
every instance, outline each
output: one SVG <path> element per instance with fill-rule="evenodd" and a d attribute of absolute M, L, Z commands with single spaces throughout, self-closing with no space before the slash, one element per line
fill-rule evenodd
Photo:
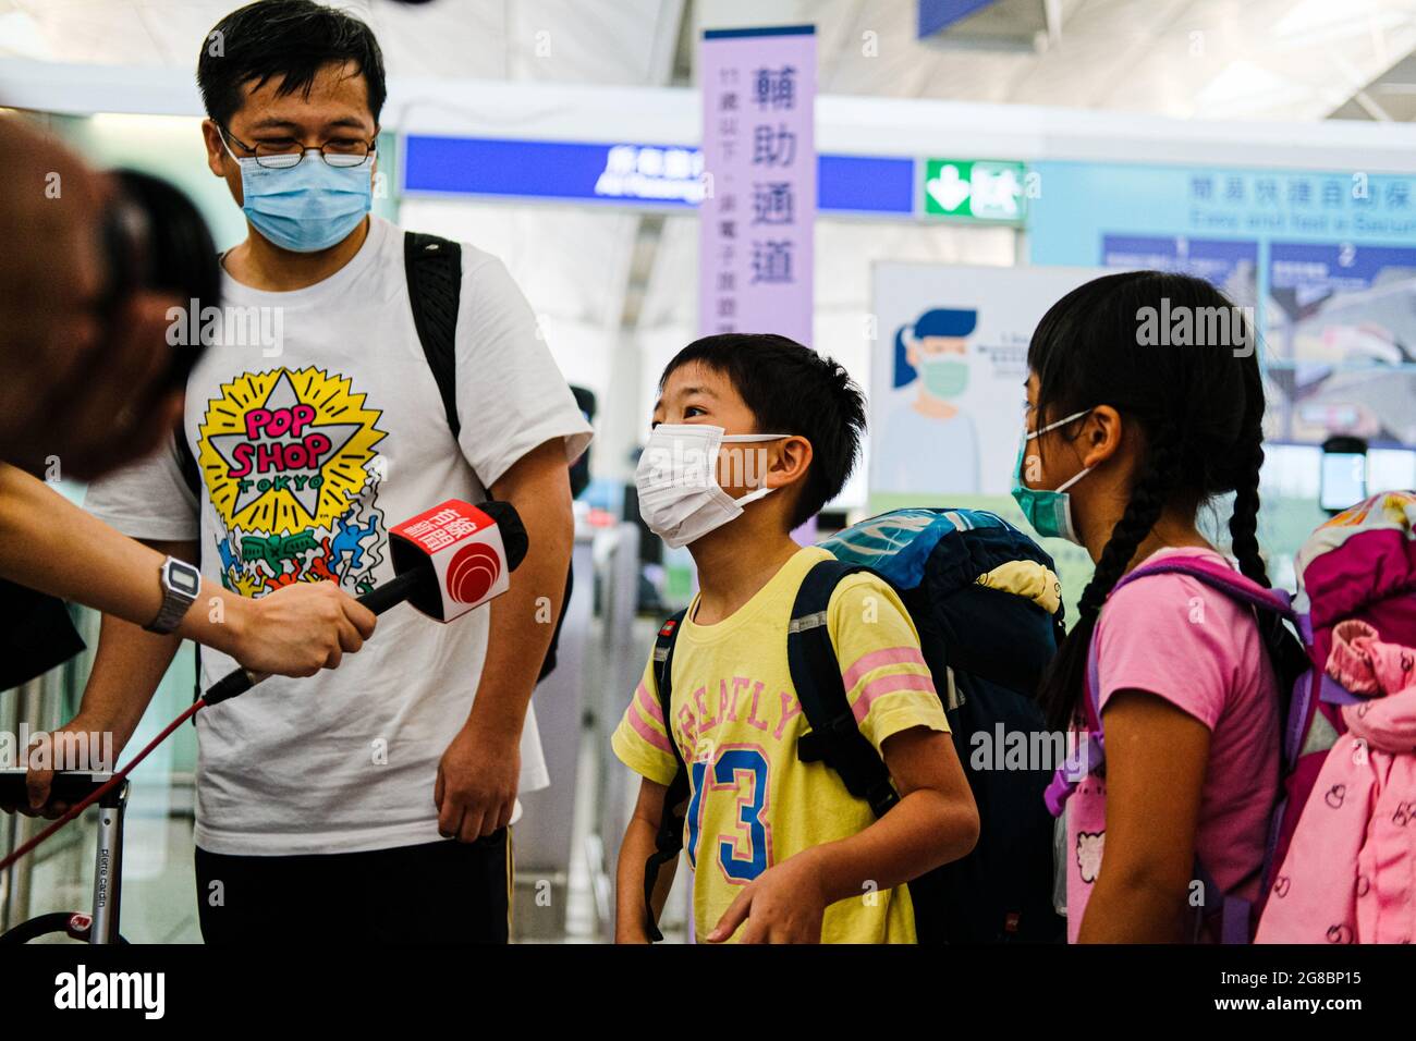
<path fill-rule="evenodd" d="M 787 661 L 797 589 L 831 559 L 790 533 L 855 465 L 858 388 L 786 337 L 711 336 L 668 363 L 653 428 L 636 477 L 640 510 L 670 545 L 690 547 L 700 592 L 674 633 L 668 718 L 651 657 L 613 735 L 616 755 L 643 778 L 620 847 L 616 938 L 651 935 L 646 863 L 681 759 L 698 936 L 913 942 L 905 882 L 963 857 L 978 836 L 915 626 L 871 574 L 845 576 L 830 596 L 826 626 L 855 725 L 899 795 L 879 819 L 834 770 L 799 758 L 810 728 Z M 666 867 L 656 915 L 673 878 Z"/>

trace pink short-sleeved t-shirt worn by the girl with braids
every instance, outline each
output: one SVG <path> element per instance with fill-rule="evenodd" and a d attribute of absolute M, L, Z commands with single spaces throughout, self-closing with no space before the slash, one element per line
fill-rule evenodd
<path fill-rule="evenodd" d="M 1223 559 L 1204 548 L 1160 550 L 1150 559 L 1161 554 Z M 1103 724 L 1112 694 L 1143 690 L 1209 728 L 1195 853 L 1221 889 L 1256 899 L 1279 789 L 1279 698 L 1253 613 L 1188 575 L 1150 575 L 1112 595 L 1095 639 Z M 1106 782 L 1087 776 L 1066 807 L 1068 940 L 1075 943 L 1102 867 Z"/>

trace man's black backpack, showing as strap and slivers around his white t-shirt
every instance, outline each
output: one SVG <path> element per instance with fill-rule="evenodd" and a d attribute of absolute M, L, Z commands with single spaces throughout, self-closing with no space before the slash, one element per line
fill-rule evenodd
<path fill-rule="evenodd" d="M 447 415 L 447 428 L 456 440 L 462 432 L 462 421 L 457 416 L 456 374 L 457 310 L 462 305 L 462 244 L 419 231 L 405 231 L 404 272 L 408 278 L 408 297 L 413 310 L 413 327 L 418 330 L 423 357 L 428 358 L 428 368 L 432 370 L 433 380 L 438 381 L 438 395 L 442 398 L 443 412 Z M 183 480 L 200 503 L 201 473 L 197 469 L 197 459 L 187 445 L 187 438 L 180 422 L 174 440 L 177 465 L 181 469 Z M 571 602 L 571 591 L 575 585 L 573 579 L 575 575 L 566 568 L 565 598 L 561 601 L 561 613 L 555 619 L 551 646 L 545 652 L 545 660 L 541 663 L 541 673 L 537 676 L 537 683 L 549 676 L 551 670 L 555 669 L 555 652 L 561 643 L 561 626 L 565 623 L 565 606 Z M 197 670 L 197 683 L 201 683 L 200 667 Z"/>

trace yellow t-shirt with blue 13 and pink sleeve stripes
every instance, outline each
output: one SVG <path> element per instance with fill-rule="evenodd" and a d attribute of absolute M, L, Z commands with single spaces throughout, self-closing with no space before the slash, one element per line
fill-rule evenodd
<path fill-rule="evenodd" d="M 834 770 L 797 759 L 797 738 L 809 727 L 787 667 L 787 623 L 801 579 L 823 559 L 826 550 L 801 550 L 716 625 L 691 620 L 695 599 L 674 643 L 673 738 L 690 766 L 684 850 L 700 936 L 770 865 L 875 820 Z M 847 576 L 831 593 L 827 626 L 857 724 L 877 751 L 910 727 L 949 732 L 919 633 L 888 585 L 868 574 Z M 677 763 L 666 734 L 650 657 L 612 744 L 632 770 L 668 785 Z M 862 885 L 860 898 L 826 909 L 821 940 L 913 943 L 909 891 Z"/>

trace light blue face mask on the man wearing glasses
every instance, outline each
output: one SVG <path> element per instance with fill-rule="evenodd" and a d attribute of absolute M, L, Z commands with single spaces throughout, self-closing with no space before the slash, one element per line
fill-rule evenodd
<path fill-rule="evenodd" d="M 296 254 L 344 241 L 374 205 L 372 163 L 333 167 L 310 152 L 317 150 L 285 169 L 231 156 L 241 166 L 241 210 L 251 227 Z"/>

